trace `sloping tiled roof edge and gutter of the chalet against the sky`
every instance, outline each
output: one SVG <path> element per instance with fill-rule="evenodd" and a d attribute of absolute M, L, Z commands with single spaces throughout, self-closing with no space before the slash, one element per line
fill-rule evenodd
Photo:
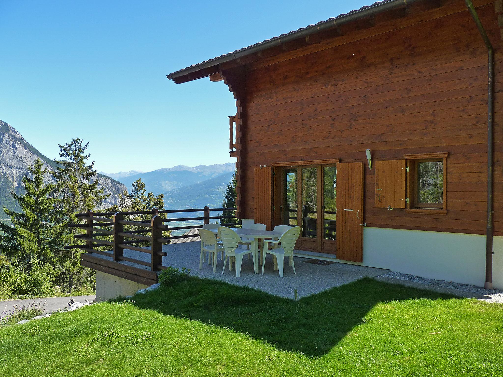
<path fill-rule="evenodd" d="M 305 28 L 300 28 L 295 31 L 290 31 L 288 33 L 281 34 L 281 35 L 279 35 L 277 37 L 273 37 L 271 39 L 266 39 L 265 41 L 250 45 L 248 47 L 243 47 L 239 50 L 235 50 L 233 52 L 229 52 L 227 54 L 220 55 L 220 56 L 214 57 L 209 60 L 205 60 L 199 64 L 193 64 L 187 68 L 180 69 L 176 72 L 173 72 L 173 73 L 167 75 L 167 78 L 174 79 L 176 77 L 180 77 L 180 76 L 186 75 L 191 72 L 196 72 L 201 69 L 209 68 L 214 65 L 223 63 L 225 61 L 237 59 L 237 58 L 245 56 L 245 55 L 253 54 L 255 52 L 264 50 L 269 47 L 273 47 L 275 45 L 280 45 L 282 43 L 292 41 L 297 38 L 301 38 L 301 37 L 304 37 L 307 35 L 315 34 L 320 31 L 323 31 L 323 30 L 336 28 L 336 27 L 344 25 L 348 22 L 356 21 L 361 18 L 369 17 L 375 13 L 380 13 L 380 12 L 384 12 L 384 11 L 399 8 L 399 7 L 405 7 L 407 5 L 415 3 L 417 1 L 420 1 L 420 0 L 383 0 L 380 2 L 376 2 L 372 5 L 365 6 L 360 9 L 341 14 L 337 17 L 332 17 L 332 18 L 329 18 L 325 21 L 320 21 L 316 24 L 306 26 Z"/>

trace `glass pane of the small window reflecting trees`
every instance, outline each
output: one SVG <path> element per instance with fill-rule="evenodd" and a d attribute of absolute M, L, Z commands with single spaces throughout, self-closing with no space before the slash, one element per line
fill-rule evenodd
<path fill-rule="evenodd" d="M 429 204 L 443 203 L 444 162 L 417 163 L 417 202 Z"/>

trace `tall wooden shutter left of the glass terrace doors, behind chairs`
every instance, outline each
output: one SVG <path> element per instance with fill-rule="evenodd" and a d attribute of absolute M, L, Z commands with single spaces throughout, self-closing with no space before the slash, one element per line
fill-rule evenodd
<path fill-rule="evenodd" d="M 273 180 L 271 166 L 255 168 L 255 222 L 272 230 Z"/>

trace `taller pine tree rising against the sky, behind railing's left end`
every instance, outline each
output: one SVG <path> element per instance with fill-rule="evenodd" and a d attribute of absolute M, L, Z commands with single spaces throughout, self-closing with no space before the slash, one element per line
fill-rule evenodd
<path fill-rule="evenodd" d="M 76 222 L 75 213 L 93 210 L 103 204 L 109 197 L 104 195 L 104 189 L 98 188 L 98 179 L 94 179 L 98 170 L 95 162 L 88 164 L 90 154 L 85 154 L 89 143 L 83 145 L 82 139 L 73 139 L 70 143 L 59 145 L 60 160 L 54 159 L 58 164 L 55 171 L 51 172 L 56 179 L 56 193 L 60 199 L 60 209 L 64 213 L 65 220 Z M 76 232 L 71 228 L 71 232 Z M 68 277 L 68 292 L 73 286 L 75 273 L 81 271 L 80 254 L 77 249 L 69 249 L 60 254 L 61 264 L 65 268 Z"/>

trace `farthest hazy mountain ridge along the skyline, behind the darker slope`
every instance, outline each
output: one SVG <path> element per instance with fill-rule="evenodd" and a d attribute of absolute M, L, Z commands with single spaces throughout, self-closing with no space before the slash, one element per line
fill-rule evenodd
<path fill-rule="evenodd" d="M 216 165 L 185 166 L 177 165 L 171 168 L 157 169 L 146 173 L 138 173 L 117 179 L 131 189 L 131 183 L 138 178 L 145 183 L 147 192 L 155 195 L 193 185 L 205 180 L 215 178 L 224 173 L 232 173 L 235 165 L 232 162 Z M 182 207 L 181 207 L 182 208 Z"/>

